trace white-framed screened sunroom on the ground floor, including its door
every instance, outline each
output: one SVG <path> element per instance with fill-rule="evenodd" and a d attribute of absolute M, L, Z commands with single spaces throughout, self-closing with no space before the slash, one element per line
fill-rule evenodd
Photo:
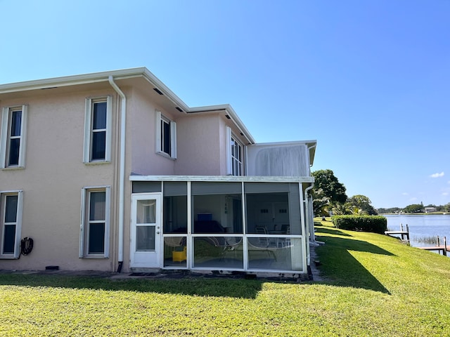
<path fill-rule="evenodd" d="M 312 178 L 130 179 L 131 268 L 307 272 Z"/>

